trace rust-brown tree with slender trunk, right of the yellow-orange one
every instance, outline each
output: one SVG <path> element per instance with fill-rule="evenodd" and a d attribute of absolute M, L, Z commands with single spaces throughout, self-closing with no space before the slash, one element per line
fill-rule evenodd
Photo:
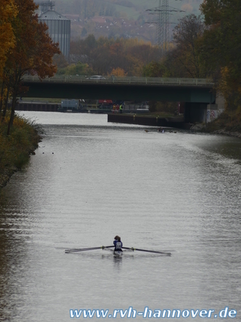
<path fill-rule="evenodd" d="M 60 53 L 58 44 L 53 44 L 47 33 L 48 26 L 39 24 L 35 10 L 37 6 L 33 0 L 15 0 L 19 12 L 12 22 L 15 35 L 15 48 L 12 49 L 6 61 L 8 84 L 12 91 L 12 107 L 8 134 L 15 116 L 17 96 L 26 91 L 22 87 L 23 75 L 27 72 L 39 75 L 40 79 L 51 77 L 57 71 L 52 64 L 52 57 Z"/>

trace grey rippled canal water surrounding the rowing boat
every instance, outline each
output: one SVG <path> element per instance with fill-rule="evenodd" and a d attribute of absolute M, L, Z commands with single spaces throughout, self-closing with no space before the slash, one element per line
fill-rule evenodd
<path fill-rule="evenodd" d="M 215 310 L 216 321 L 229 307 L 241 321 L 238 138 L 145 132 L 106 115 L 24 116 L 44 136 L 1 193 L 0 321 L 66 322 L 71 309 L 109 310 L 111 321 L 129 307 Z M 111 245 L 115 235 L 172 255 L 64 253 Z M 185 314 L 169 320 L 193 321 Z"/>

